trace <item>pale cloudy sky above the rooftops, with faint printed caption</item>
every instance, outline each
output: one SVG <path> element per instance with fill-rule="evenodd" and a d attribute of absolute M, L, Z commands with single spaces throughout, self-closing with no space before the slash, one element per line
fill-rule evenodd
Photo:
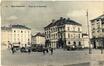
<path fill-rule="evenodd" d="M 88 31 L 86 11 L 90 20 L 104 14 L 104 1 L 3 1 L 1 24 L 22 24 L 32 29 L 32 34 L 44 32 L 52 19 L 70 18 Z"/>

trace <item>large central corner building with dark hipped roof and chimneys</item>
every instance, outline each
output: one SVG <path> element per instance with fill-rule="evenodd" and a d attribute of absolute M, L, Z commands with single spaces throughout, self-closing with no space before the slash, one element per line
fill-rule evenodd
<path fill-rule="evenodd" d="M 45 39 L 53 48 L 82 44 L 82 25 L 70 18 L 60 17 L 58 20 L 52 20 L 44 30 Z"/>

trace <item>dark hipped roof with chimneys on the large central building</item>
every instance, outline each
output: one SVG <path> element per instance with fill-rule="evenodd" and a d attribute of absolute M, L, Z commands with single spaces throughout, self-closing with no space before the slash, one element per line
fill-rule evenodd
<path fill-rule="evenodd" d="M 59 20 L 57 20 L 57 21 L 52 21 L 49 25 L 47 25 L 45 28 L 47 28 L 47 27 L 52 27 L 52 26 L 60 26 L 60 25 L 64 25 L 64 24 L 71 24 L 71 25 L 79 25 L 79 26 L 81 26 L 81 24 L 80 23 L 78 23 L 78 22 L 75 22 L 75 21 L 73 21 L 73 20 L 71 20 L 70 18 L 63 18 L 63 17 L 60 17 L 60 19 Z"/>

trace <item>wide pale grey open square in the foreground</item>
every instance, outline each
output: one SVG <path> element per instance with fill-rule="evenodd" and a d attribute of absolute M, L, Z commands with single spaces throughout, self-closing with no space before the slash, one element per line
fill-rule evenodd
<path fill-rule="evenodd" d="M 100 54 L 100 50 L 93 50 L 92 54 L 88 54 L 88 49 L 56 49 L 53 55 L 43 55 L 42 52 L 12 54 L 9 50 L 2 50 L 1 60 L 2 66 L 104 66 L 104 54 Z"/>

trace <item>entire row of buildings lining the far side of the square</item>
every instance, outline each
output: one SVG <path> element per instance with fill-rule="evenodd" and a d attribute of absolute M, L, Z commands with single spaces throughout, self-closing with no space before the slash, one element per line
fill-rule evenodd
<path fill-rule="evenodd" d="M 92 39 L 91 44 L 96 48 L 104 45 L 104 15 L 91 20 Z M 53 19 L 50 24 L 44 27 L 44 33 L 31 34 L 30 28 L 24 25 L 10 25 L 1 27 L 1 44 L 3 46 L 17 45 L 20 47 L 38 44 L 53 48 L 63 48 L 74 45 L 76 47 L 89 47 L 89 37 L 87 33 L 82 33 L 82 24 L 70 18 L 60 17 Z"/>

